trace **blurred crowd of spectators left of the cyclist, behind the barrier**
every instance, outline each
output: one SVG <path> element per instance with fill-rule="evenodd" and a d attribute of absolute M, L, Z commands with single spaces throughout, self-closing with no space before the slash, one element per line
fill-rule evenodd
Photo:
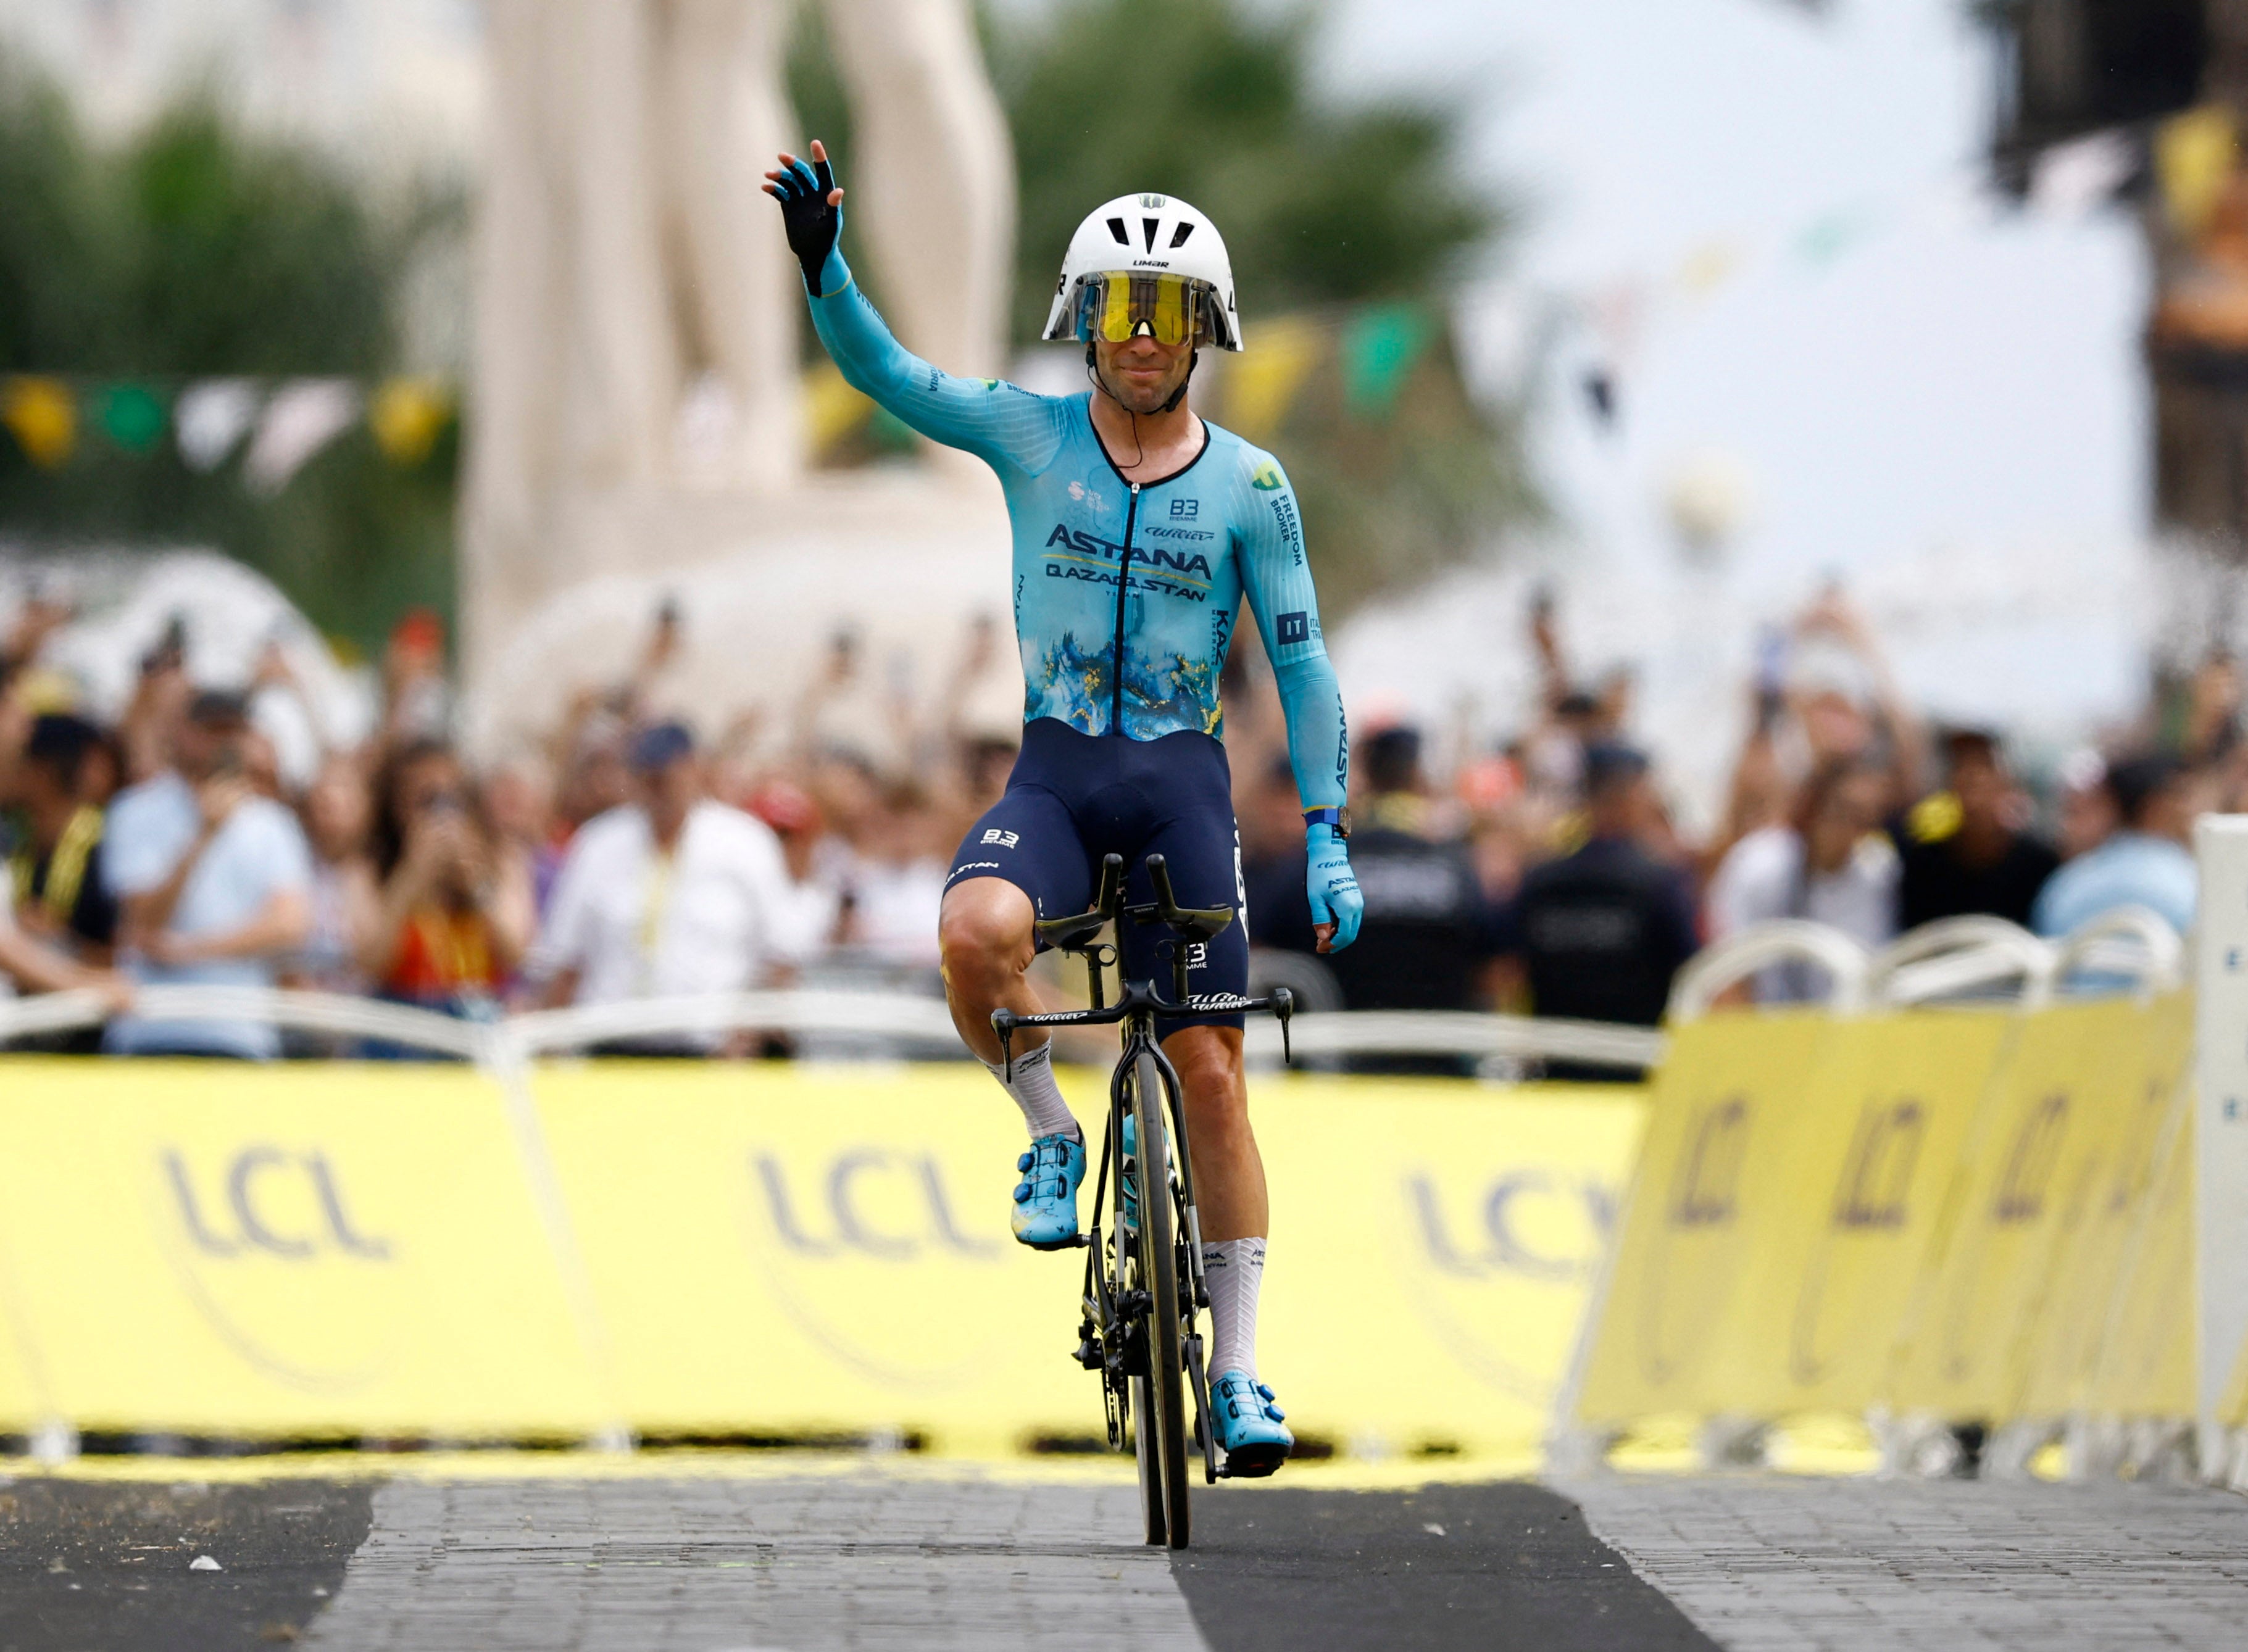
<path fill-rule="evenodd" d="M 681 641 L 665 611 L 629 681 L 575 695 L 537 748 L 470 764 L 443 627 L 416 614 L 389 641 L 373 737 L 292 787 L 268 717 L 297 692 L 279 650 L 250 683 L 214 688 L 175 627 L 103 724 L 38 668 L 65 618 L 31 602 L 0 632 L 0 996 L 81 987 L 119 1014 L 34 1041 L 49 1050 L 283 1050 L 254 1020 L 130 1014 L 142 984 L 303 987 L 465 1018 L 807 975 L 935 991 L 949 854 L 1018 739 L 958 710 L 994 701 L 982 679 L 1007 661 L 989 623 L 964 638 L 940 726 L 881 695 L 854 706 L 865 672 L 839 636 L 778 726 L 706 737 L 661 699 Z"/>

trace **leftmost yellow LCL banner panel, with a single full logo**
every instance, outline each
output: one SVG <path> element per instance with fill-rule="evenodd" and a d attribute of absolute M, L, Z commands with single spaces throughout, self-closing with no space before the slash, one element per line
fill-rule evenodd
<path fill-rule="evenodd" d="M 465 1068 L 0 1059 L 4 1427 L 558 1436 L 607 1420 Z"/>

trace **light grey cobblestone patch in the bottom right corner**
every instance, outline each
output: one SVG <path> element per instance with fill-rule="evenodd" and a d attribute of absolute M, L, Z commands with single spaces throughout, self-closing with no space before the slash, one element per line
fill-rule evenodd
<path fill-rule="evenodd" d="M 2248 1499 L 2158 1486 L 1567 1481 L 1731 1652 L 2248 1645 Z"/>

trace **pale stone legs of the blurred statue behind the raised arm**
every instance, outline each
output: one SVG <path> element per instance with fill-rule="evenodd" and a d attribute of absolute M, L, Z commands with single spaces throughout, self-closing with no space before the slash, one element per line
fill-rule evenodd
<path fill-rule="evenodd" d="M 854 232 L 901 337 L 1003 360 L 1014 157 L 964 0 L 823 0 L 856 117 Z M 490 0 L 472 654 L 546 596 L 755 537 L 805 465 L 803 297 L 760 193 L 798 148 L 791 0 Z M 713 521 L 717 526 L 713 526 Z M 701 542 L 695 542 L 699 535 Z"/>

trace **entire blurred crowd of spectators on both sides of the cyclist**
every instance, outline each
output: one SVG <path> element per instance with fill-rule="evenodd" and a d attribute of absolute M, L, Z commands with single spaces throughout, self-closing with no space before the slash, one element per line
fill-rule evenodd
<path fill-rule="evenodd" d="M 470 1018 L 807 980 L 933 993 L 951 850 L 1018 742 L 991 620 L 926 704 L 883 690 L 839 634 L 794 706 L 710 728 L 663 701 L 683 636 L 665 607 L 625 683 L 578 692 L 535 748 L 472 764 L 452 742 L 443 629 L 416 614 L 389 641 L 375 733 L 290 784 L 265 717 L 294 690 L 279 650 L 247 683 L 196 683 L 173 627 L 121 715 L 97 721 L 40 670 L 65 618 L 34 600 L 0 632 L 0 993 L 79 987 L 117 1011 L 36 1041 L 52 1050 L 283 1047 L 252 1020 L 130 1014 L 135 984 L 292 984 Z M 2248 800 L 2226 659 L 2037 796 L 1996 730 L 1924 728 L 1828 593 L 1760 650 L 1747 742 L 1693 838 L 1630 742 L 1630 674 L 1578 681 L 1547 600 L 1524 645 L 1538 701 L 1497 748 L 1365 719 L 1351 859 L 1367 917 L 1329 957 L 1313 955 L 1277 699 L 1252 650 L 1227 668 L 1261 982 L 1313 1009 L 1652 1025 L 1704 942 L 1780 917 L 1868 946 L 1965 913 L 2059 935 L 2120 904 L 2185 931 L 2192 820 Z M 1776 969 L 1749 991 L 1812 987 Z"/>

